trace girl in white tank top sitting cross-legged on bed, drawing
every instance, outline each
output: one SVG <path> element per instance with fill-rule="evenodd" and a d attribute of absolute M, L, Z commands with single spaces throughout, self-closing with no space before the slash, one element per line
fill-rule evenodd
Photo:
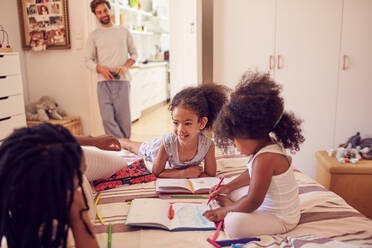
<path fill-rule="evenodd" d="M 204 213 L 212 221 L 224 220 L 231 237 L 285 233 L 300 219 L 298 186 L 285 149 L 298 151 L 304 137 L 301 121 L 284 111 L 280 91 L 269 74 L 246 73 L 217 118 L 217 145 L 233 142 L 250 156 L 244 173 L 211 189 L 222 207 Z"/>

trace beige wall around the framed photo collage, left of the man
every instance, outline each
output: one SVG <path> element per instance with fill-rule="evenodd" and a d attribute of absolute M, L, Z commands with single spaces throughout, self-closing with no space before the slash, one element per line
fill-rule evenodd
<path fill-rule="evenodd" d="M 18 23 L 15 22 L 18 20 L 17 1 L 5 1 L 7 1 L 5 12 L 8 13 L 6 20 L 13 23 L 12 28 L 17 28 L 13 33 L 14 39 L 19 42 L 21 38 Z M 100 119 L 97 121 L 97 115 L 92 114 L 92 111 L 98 108 L 92 106 L 91 99 L 92 95 L 96 94 L 96 85 L 91 83 L 90 72 L 84 63 L 84 46 L 88 33 L 87 15 L 90 14 L 89 0 L 69 0 L 68 7 L 71 49 L 23 52 L 27 68 L 23 71 L 23 76 L 27 78 L 26 102 L 33 102 L 43 95 L 49 95 L 56 99 L 68 115 L 81 117 L 85 134 L 98 135 L 100 133 L 96 132 L 95 125 Z M 1 21 L 3 15 L 0 14 L 0 17 L 0 23 L 3 23 Z"/>

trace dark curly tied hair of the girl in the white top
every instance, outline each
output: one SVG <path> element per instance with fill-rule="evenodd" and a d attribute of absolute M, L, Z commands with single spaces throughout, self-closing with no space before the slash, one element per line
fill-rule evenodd
<path fill-rule="evenodd" d="M 298 151 L 305 141 L 302 121 L 284 111 L 281 89 L 268 73 L 245 73 L 216 121 L 217 146 L 226 148 L 234 138 L 262 139 L 274 132 L 284 148 Z"/>

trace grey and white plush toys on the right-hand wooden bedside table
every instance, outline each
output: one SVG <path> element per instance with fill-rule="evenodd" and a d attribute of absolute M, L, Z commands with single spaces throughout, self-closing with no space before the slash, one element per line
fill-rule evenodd
<path fill-rule="evenodd" d="M 344 145 L 335 149 L 329 149 L 328 155 L 333 156 L 336 151 L 336 159 L 340 163 L 357 163 L 362 157 L 372 157 L 372 139 L 361 140 L 360 133 L 351 136 Z"/>

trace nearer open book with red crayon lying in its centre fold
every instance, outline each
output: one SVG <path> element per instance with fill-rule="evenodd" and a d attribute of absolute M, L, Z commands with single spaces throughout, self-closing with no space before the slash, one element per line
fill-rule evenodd
<path fill-rule="evenodd" d="M 216 229 L 214 222 L 203 216 L 205 210 L 207 210 L 205 203 L 170 203 L 167 200 L 155 198 L 134 199 L 125 224 L 168 231 Z"/>

